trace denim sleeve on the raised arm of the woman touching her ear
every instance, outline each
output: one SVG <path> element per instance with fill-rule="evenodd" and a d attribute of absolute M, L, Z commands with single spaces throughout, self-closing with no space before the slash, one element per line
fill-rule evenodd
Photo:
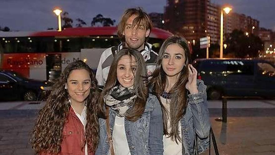
<path fill-rule="evenodd" d="M 202 80 L 197 80 L 198 93 L 188 95 L 188 107 L 193 114 L 193 125 L 199 138 L 209 136 L 210 119 L 207 107 L 206 85 Z"/>

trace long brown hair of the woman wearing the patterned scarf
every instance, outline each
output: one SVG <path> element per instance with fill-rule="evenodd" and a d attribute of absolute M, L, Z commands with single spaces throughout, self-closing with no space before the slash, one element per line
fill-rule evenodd
<path fill-rule="evenodd" d="M 131 109 L 131 111 L 129 111 L 125 116 L 126 119 L 129 121 L 136 121 L 143 114 L 146 101 L 148 98 L 148 88 L 146 86 L 147 69 L 146 69 L 146 65 L 142 55 L 137 50 L 123 48 L 115 55 L 113 59 L 113 63 L 110 67 L 106 84 L 100 96 L 100 103 L 105 104 L 103 100 L 104 96 L 114 86 L 119 85 L 119 82 L 117 79 L 117 67 L 118 67 L 118 61 L 124 55 L 128 55 L 130 57 L 130 60 L 132 60 L 132 57 L 134 57 L 135 63 L 137 66 L 135 73 L 133 73 L 134 74 L 134 92 L 137 95 L 137 98 L 135 100 L 133 109 Z"/>

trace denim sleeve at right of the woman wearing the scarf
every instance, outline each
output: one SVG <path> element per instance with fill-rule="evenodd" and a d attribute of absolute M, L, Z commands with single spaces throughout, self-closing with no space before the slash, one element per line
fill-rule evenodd
<path fill-rule="evenodd" d="M 148 145 L 150 155 L 163 155 L 163 117 L 161 106 L 156 96 L 153 98 Z"/>

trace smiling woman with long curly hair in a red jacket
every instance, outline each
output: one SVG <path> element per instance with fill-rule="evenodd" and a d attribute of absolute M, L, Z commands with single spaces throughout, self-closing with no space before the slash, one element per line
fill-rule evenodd
<path fill-rule="evenodd" d="M 35 152 L 93 155 L 102 115 L 97 98 L 97 80 L 90 67 L 81 60 L 69 64 L 39 111 L 31 139 Z"/>

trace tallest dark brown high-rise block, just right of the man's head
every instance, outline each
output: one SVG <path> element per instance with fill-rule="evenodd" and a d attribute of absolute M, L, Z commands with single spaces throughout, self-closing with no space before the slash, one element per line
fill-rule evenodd
<path fill-rule="evenodd" d="M 209 0 L 167 0 L 165 28 L 196 43 L 206 36 L 208 2 Z"/>

